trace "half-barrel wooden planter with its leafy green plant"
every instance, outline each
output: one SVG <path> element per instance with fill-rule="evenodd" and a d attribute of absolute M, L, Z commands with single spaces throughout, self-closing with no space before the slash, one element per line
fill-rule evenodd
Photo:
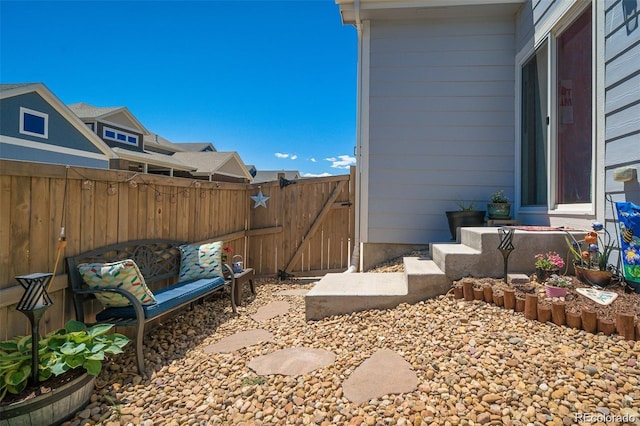
<path fill-rule="evenodd" d="M 121 353 L 129 342 L 122 334 L 107 334 L 112 327 L 87 328 L 71 320 L 41 338 L 37 381 L 31 368 L 31 336 L 0 342 L 0 419 L 9 419 L 9 424 L 57 424 L 82 408 L 105 354 Z"/>

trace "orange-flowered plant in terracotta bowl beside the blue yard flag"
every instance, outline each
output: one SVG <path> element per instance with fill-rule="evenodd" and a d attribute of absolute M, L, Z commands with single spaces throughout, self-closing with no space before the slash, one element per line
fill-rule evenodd
<path fill-rule="evenodd" d="M 609 264 L 609 255 L 614 244 L 609 231 L 600 222 L 592 224 L 584 239 L 576 240 L 569 232 L 565 236 L 569 251 L 573 255 L 576 277 L 583 283 L 606 287 L 613 278 L 614 267 Z M 604 231 L 602 236 L 600 231 Z"/>

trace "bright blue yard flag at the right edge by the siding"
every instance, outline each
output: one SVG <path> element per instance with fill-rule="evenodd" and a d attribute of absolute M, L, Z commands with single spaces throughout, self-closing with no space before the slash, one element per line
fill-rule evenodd
<path fill-rule="evenodd" d="M 640 293 L 640 206 L 617 202 L 624 278 Z"/>

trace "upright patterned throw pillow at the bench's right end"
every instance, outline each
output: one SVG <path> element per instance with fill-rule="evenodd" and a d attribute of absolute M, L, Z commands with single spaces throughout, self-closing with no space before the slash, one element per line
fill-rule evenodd
<path fill-rule="evenodd" d="M 200 246 L 182 245 L 180 281 L 222 276 L 222 241 Z"/>

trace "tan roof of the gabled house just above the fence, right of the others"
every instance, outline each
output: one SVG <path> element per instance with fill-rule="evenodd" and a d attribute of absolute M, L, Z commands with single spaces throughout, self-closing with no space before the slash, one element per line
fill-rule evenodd
<path fill-rule="evenodd" d="M 172 157 L 195 167 L 197 170 L 191 172 L 194 176 L 212 177 L 219 174 L 252 179 L 237 152 L 176 152 Z"/>

